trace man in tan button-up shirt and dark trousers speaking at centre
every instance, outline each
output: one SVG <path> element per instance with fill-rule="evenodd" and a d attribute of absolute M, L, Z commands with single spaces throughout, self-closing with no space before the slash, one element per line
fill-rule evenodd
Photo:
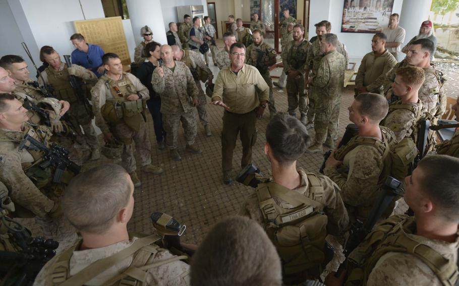
<path fill-rule="evenodd" d="M 256 118 L 261 118 L 269 99 L 269 87 L 254 66 L 244 64 L 246 47 L 234 43 L 229 48 L 231 66 L 218 73 L 212 104 L 225 109 L 221 132 L 223 183 L 233 183 L 233 151 L 241 132 L 244 168 L 252 161 L 252 146 L 257 139 Z M 258 96 L 257 96 L 257 93 Z"/>

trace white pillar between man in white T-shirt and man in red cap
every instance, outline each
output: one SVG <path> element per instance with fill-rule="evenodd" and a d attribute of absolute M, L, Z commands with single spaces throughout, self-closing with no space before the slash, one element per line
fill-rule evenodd
<path fill-rule="evenodd" d="M 419 33 L 422 22 L 429 19 L 432 0 L 404 0 L 401 6 L 400 21 L 398 25 L 405 29 L 404 47 L 414 36 Z M 399 56 L 405 55 L 398 53 Z"/>

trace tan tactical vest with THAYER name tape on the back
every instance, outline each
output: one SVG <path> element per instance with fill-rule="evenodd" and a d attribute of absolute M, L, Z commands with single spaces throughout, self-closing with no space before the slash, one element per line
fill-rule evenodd
<path fill-rule="evenodd" d="M 323 214 L 323 187 L 313 173 L 307 173 L 309 196 L 285 188 L 266 178 L 256 194 L 264 218 L 264 229 L 282 261 L 285 280 L 298 274 L 304 279 L 319 277 L 325 266 L 327 216 Z M 273 197 L 293 208 L 281 207 Z"/>

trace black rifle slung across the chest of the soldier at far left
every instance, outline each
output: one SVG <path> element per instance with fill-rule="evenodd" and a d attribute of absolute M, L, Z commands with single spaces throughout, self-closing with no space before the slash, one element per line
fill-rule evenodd
<path fill-rule="evenodd" d="M 38 166 L 43 170 L 51 165 L 55 167 L 54 177 L 52 179 L 55 183 L 61 182 L 62 175 L 66 169 L 75 175 L 80 173 L 81 167 L 69 159 L 69 151 L 62 146 L 51 143 L 50 148 L 48 148 L 42 142 L 26 134 L 19 144 L 19 151 L 24 148 L 43 152 L 43 162 Z"/>

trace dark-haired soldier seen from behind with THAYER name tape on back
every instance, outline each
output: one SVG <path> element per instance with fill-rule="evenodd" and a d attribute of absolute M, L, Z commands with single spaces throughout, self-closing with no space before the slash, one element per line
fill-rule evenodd
<path fill-rule="evenodd" d="M 310 140 L 297 118 L 280 113 L 271 119 L 264 153 L 273 178 L 260 178 L 240 211 L 263 226 L 276 246 L 285 284 L 317 279 L 331 254 L 325 249 L 326 235 L 340 236 L 349 224 L 338 186 L 297 167 Z"/>

